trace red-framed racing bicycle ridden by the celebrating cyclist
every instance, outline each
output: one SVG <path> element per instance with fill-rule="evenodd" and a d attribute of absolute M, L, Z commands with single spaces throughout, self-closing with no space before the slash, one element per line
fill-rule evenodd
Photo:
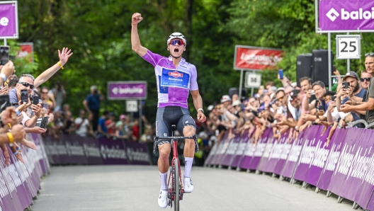
<path fill-rule="evenodd" d="M 155 137 L 154 138 L 154 152 L 157 151 L 157 140 L 159 139 L 171 139 L 171 146 L 173 148 L 173 158 L 171 159 L 171 168 L 168 180 L 168 205 L 172 208 L 174 203 L 174 211 L 179 211 L 179 200 L 183 200 L 183 181 L 181 173 L 181 163 L 178 158 L 178 140 L 179 139 L 194 139 L 195 140 L 195 152 L 198 150 L 198 139 L 196 135 L 192 137 L 174 137 L 176 131 L 176 125 L 171 125 L 171 137 Z"/>

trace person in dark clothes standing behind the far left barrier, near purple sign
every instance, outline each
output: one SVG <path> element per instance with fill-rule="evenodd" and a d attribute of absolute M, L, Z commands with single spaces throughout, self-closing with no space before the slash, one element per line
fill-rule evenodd
<path fill-rule="evenodd" d="M 92 115 L 92 128 L 95 132 L 98 130 L 98 113 L 101 101 L 103 101 L 101 92 L 98 91 L 97 86 L 91 86 L 91 93 L 83 101 L 83 105 L 87 113 Z"/>

